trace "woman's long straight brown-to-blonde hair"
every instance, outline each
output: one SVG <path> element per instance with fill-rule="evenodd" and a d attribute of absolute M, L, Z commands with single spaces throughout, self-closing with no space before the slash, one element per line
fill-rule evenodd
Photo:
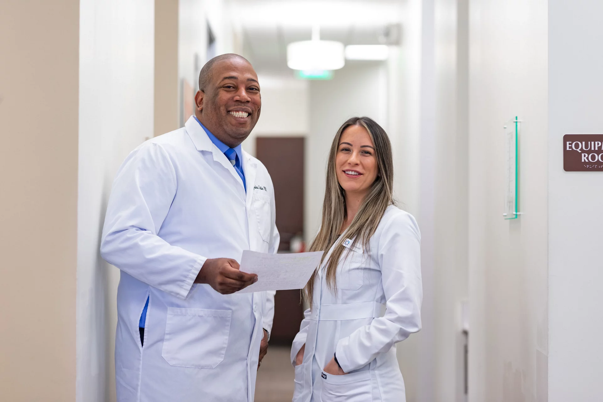
<path fill-rule="evenodd" d="M 344 220 L 347 218 L 346 197 L 344 189 L 337 180 L 335 157 L 339 149 L 339 140 L 346 128 L 358 125 L 368 131 L 375 149 L 377 158 L 377 178 L 362 201 L 358 213 L 352 220 L 350 226 L 344 231 L 345 237 L 353 239 L 351 248 L 354 248 L 358 242 L 362 243 L 362 248 L 368 250 L 368 242 L 371 236 L 377 230 L 377 225 L 381 220 L 387 207 L 394 203 L 393 200 L 393 182 L 394 182 L 394 163 L 391 154 L 390 139 L 385 130 L 373 119 L 367 117 L 355 117 L 348 119 L 335 134 L 329 160 L 327 162 L 327 180 L 324 190 L 323 201 L 323 219 L 320 231 L 312 242 L 309 251 L 324 251 L 320 266 L 323 265 L 330 248 L 335 242 L 338 242 L 329 256 L 326 263 L 326 279 L 330 289 L 335 289 L 335 274 L 339 259 L 343 254 L 345 247 L 339 239 L 339 234 Z M 344 236 L 341 236 L 344 237 Z M 339 239 L 339 241 L 338 241 Z M 347 254 L 346 254 L 347 257 Z M 317 268 L 312 277 L 303 289 L 303 297 L 312 306 L 312 295 L 314 294 L 314 280 L 318 274 Z"/>

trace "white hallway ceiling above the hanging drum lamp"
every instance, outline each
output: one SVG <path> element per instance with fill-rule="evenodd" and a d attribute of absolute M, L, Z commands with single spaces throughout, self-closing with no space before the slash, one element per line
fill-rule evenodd
<path fill-rule="evenodd" d="M 286 46 L 311 39 L 314 25 L 320 27 L 320 39 L 344 45 L 399 40 L 399 0 L 232 0 L 230 13 L 241 30 L 245 57 L 261 72 L 291 74 Z"/>

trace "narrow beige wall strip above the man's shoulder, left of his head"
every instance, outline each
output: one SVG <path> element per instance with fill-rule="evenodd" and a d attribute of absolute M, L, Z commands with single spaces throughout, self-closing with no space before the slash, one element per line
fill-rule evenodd
<path fill-rule="evenodd" d="M 155 0 L 155 136 L 180 127 L 178 0 Z"/>

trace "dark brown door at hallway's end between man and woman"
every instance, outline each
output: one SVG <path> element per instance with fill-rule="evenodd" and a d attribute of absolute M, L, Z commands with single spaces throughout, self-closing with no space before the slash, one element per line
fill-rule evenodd
<path fill-rule="evenodd" d="M 256 156 L 268 169 L 274 184 L 279 252 L 291 250 L 294 237 L 303 239 L 304 196 L 303 137 L 257 137 Z M 271 344 L 291 344 L 303 319 L 300 291 L 277 291 Z"/>

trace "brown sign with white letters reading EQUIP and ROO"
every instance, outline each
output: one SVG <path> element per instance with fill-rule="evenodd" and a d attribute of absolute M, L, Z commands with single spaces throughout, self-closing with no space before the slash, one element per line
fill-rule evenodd
<path fill-rule="evenodd" d="M 563 170 L 603 172 L 603 134 L 564 135 Z"/>

